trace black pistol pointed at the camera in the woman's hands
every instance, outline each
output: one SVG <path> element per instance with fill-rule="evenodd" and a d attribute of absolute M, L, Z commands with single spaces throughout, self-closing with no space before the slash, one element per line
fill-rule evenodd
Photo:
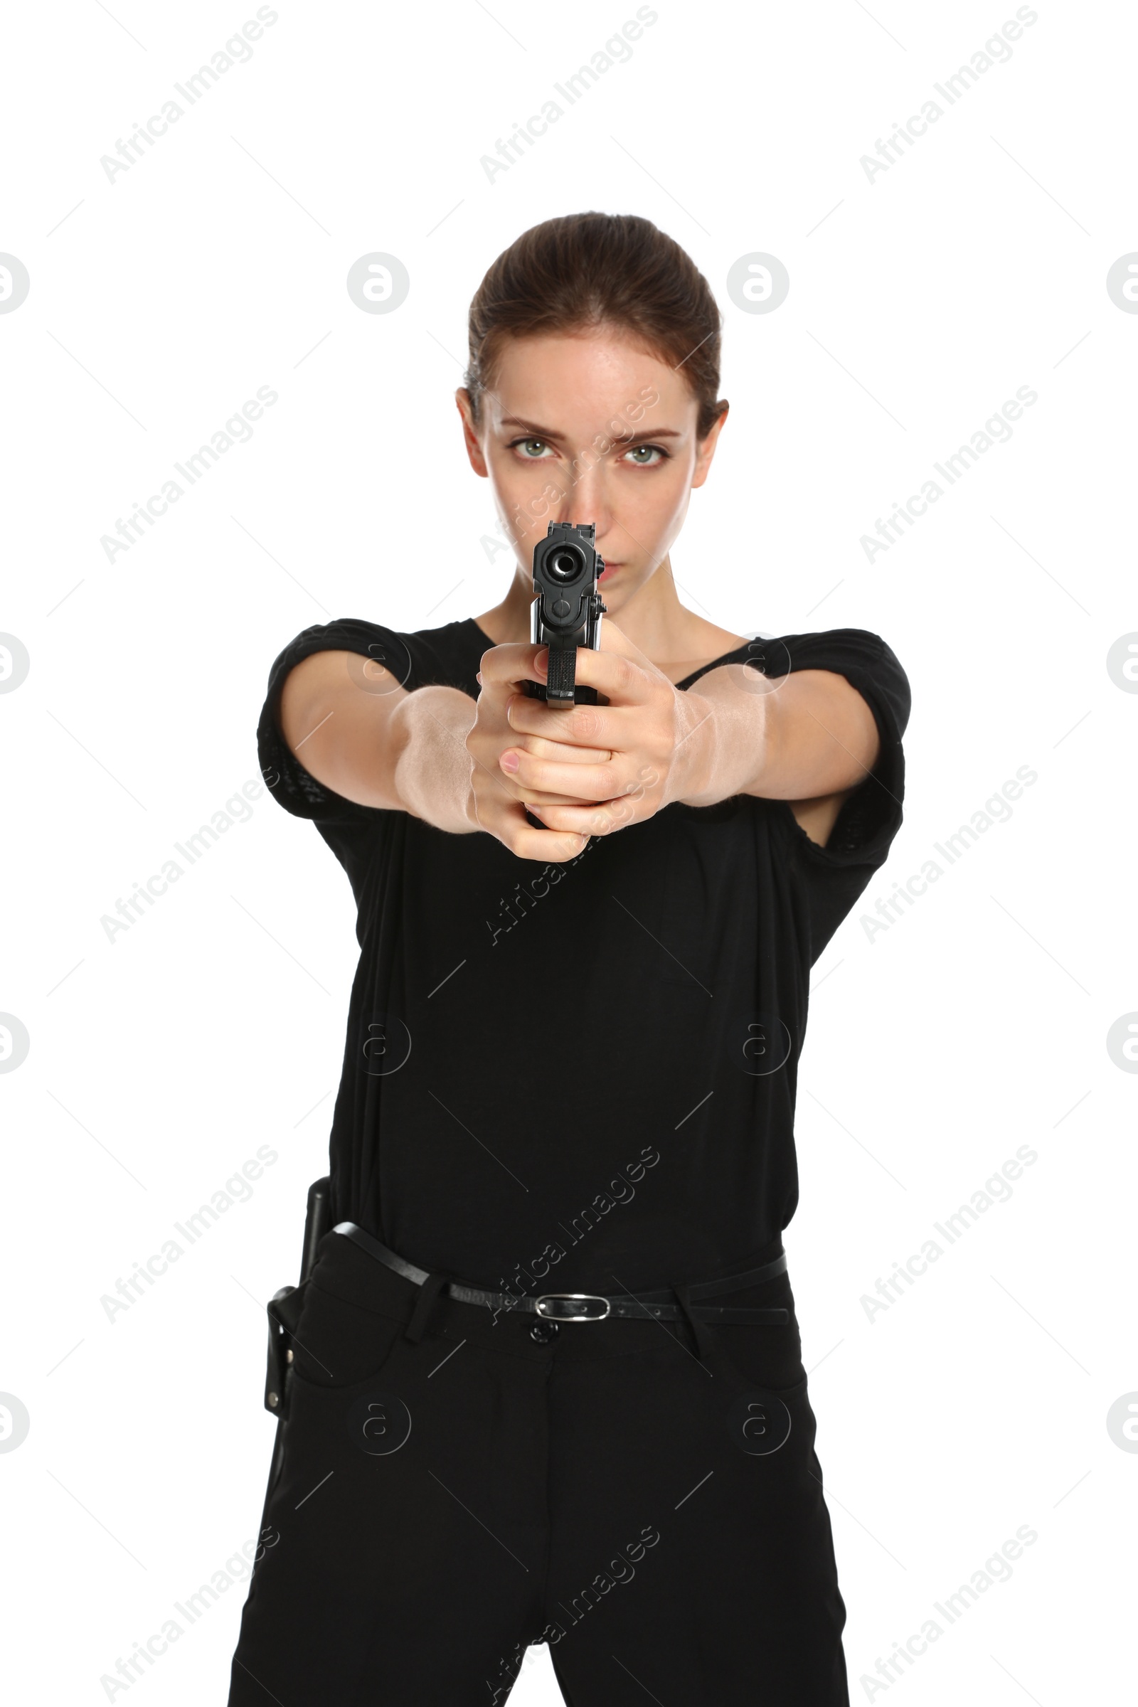
<path fill-rule="evenodd" d="M 548 705 L 595 705 L 597 690 L 577 686 L 577 647 L 597 650 L 607 606 L 597 592 L 604 558 L 597 553 L 595 522 L 549 522 L 534 546 L 532 640 L 549 647 L 546 683 L 527 681 L 531 700 Z"/>

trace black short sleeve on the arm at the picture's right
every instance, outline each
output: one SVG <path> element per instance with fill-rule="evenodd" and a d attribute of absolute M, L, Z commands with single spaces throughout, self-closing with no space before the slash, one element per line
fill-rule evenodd
<path fill-rule="evenodd" d="M 783 635 L 761 645 L 763 662 L 756 662 L 768 676 L 800 669 L 829 669 L 845 676 L 872 710 L 880 736 L 877 763 L 843 802 L 826 847 L 807 836 L 788 802 L 778 802 L 805 889 L 812 959 L 817 959 L 874 872 L 884 865 L 901 828 L 909 679 L 880 635 L 863 628 Z"/>

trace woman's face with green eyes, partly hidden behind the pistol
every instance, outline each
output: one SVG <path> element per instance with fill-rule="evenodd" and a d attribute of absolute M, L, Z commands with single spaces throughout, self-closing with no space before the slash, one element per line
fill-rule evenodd
<path fill-rule="evenodd" d="M 725 418 L 700 442 L 682 370 L 613 329 L 510 338 L 478 427 L 457 403 L 524 574 L 549 522 L 594 522 L 613 615 L 667 555 Z"/>

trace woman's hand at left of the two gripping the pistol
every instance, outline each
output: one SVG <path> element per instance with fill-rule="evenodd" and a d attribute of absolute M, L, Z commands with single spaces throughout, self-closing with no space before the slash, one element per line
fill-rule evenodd
<path fill-rule="evenodd" d="M 551 712 L 543 700 L 525 696 L 522 681 L 544 679 L 544 662 L 537 664 L 537 657 L 544 661 L 546 652 L 546 647 L 519 644 L 496 645 L 483 654 L 483 667 L 478 673 L 483 691 L 478 696 L 474 724 L 466 736 L 466 748 L 474 761 L 467 816 L 519 859 L 561 862 L 575 859 L 582 852 L 590 831 L 585 826 L 553 823 L 548 830 L 541 830 L 529 823 L 525 811 L 529 807 L 548 823 L 546 814 L 554 809 L 589 806 L 594 795 L 575 787 L 577 777 L 584 778 L 590 768 L 595 772 L 595 766 L 609 760 L 611 754 L 609 748 L 585 746 L 580 741 L 566 744 L 553 739 L 553 734 L 570 732 L 566 719 L 573 714 Z M 577 654 L 578 661 L 585 655 L 584 650 Z M 510 708 L 517 705 L 537 707 L 546 719 L 556 719 L 556 729 L 549 729 L 548 737 L 531 736 L 525 746 L 558 761 L 563 784 L 560 792 L 551 792 L 549 784 L 539 789 L 517 773 L 510 773 L 500 763 L 503 753 L 519 749 L 517 722 L 514 725 L 510 722 L 512 715 L 517 717 L 517 712 L 512 714 Z M 592 707 L 578 707 L 578 710 L 592 710 Z"/>

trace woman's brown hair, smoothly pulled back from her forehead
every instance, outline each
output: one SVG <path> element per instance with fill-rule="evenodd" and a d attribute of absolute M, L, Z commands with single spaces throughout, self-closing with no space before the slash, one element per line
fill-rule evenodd
<path fill-rule="evenodd" d="M 505 338 L 614 326 L 682 369 L 700 405 L 696 437 L 727 408 L 718 396 L 722 316 L 689 254 L 636 213 L 563 213 L 503 249 L 474 292 L 466 387 L 478 425 Z"/>

